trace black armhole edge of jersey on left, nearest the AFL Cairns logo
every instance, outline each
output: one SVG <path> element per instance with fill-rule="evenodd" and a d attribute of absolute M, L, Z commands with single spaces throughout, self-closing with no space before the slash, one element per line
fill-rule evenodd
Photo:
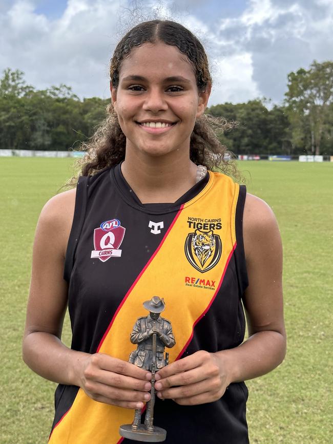
<path fill-rule="evenodd" d="M 69 282 L 71 277 L 74 265 L 75 251 L 81 234 L 82 225 L 84 223 L 86 216 L 86 208 L 88 200 L 87 199 L 88 180 L 89 177 L 81 176 L 79 177 L 76 186 L 74 217 L 65 256 L 64 279 L 67 282 Z"/>

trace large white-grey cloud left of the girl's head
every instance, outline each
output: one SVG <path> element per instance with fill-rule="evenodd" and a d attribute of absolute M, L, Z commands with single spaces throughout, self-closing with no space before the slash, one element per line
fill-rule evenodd
<path fill-rule="evenodd" d="M 76 94 L 108 95 L 108 58 L 118 40 L 116 2 L 69 0 L 49 20 L 20 0 L 0 17 L 0 68 L 21 69 L 37 88 L 66 83 Z"/>

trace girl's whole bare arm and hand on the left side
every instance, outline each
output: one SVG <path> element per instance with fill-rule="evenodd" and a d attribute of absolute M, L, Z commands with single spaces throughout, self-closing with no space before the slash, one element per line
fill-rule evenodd
<path fill-rule="evenodd" d="M 150 373 L 109 355 L 71 350 L 61 343 L 68 286 L 63 278 L 75 190 L 52 198 L 36 229 L 23 339 L 23 359 L 39 375 L 81 387 L 95 400 L 127 408 L 150 398 Z"/>

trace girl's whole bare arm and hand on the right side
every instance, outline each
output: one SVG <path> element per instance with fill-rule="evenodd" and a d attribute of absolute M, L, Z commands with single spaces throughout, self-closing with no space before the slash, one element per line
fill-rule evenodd
<path fill-rule="evenodd" d="M 252 195 L 246 197 L 243 237 L 249 281 L 244 296 L 248 340 L 217 353 L 199 351 L 164 367 L 156 377 L 159 397 L 179 404 L 209 403 L 219 399 L 229 384 L 265 374 L 282 362 L 286 336 L 281 237 L 272 210 Z"/>

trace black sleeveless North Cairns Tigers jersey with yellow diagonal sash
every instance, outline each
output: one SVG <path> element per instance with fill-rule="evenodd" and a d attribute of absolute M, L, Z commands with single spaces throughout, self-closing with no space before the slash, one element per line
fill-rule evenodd
<path fill-rule="evenodd" d="M 128 361 L 142 303 L 164 298 L 176 345 L 170 363 L 198 350 L 240 345 L 247 274 L 242 237 L 245 186 L 207 172 L 175 203 L 142 204 L 120 164 L 78 181 L 65 260 L 72 349 Z M 247 388 L 228 386 L 213 403 L 179 406 L 156 397 L 154 425 L 166 444 L 248 443 Z M 51 444 L 116 444 L 134 410 L 99 403 L 59 385 Z M 142 421 L 144 413 L 142 415 Z"/>

